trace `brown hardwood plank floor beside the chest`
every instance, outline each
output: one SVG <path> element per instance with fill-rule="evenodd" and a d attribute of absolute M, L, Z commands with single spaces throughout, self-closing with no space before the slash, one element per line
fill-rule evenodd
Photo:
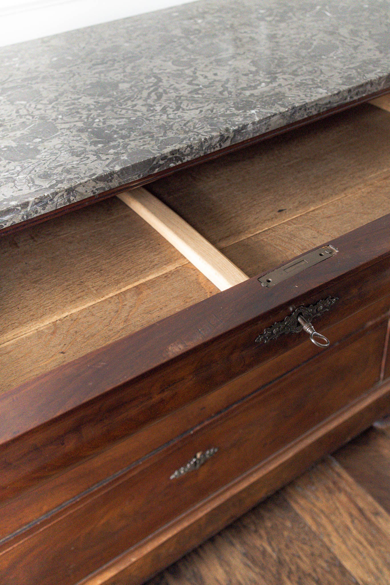
<path fill-rule="evenodd" d="M 371 428 L 147 585 L 389 585 L 390 426 Z"/>

